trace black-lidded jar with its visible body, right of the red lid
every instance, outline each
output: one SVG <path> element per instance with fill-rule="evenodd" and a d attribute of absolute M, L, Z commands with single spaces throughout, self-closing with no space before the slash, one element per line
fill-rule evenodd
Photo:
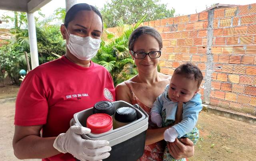
<path fill-rule="evenodd" d="M 114 120 L 114 129 L 130 124 L 137 120 L 136 110 L 130 107 L 118 108 Z"/>

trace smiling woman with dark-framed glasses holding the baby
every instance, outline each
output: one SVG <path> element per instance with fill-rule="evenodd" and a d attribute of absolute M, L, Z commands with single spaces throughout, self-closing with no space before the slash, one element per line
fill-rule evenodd
<path fill-rule="evenodd" d="M 116 100 L 124 100 L 130 104 L 139 104 L 150 115 L 150 110 L 157 96 L 162 94 L 165 86 L 170 83 L 170 76 L 157 71 L 159 57 L 163 47 L 158 31 L 149 26 L 135 29 L 129 38 L 129 51 L 138 67 L 138 75 L 116 86 Z M 182 117 L 182 103 L 179 104 L 176 121 Z M 149 127 L 146 135 L 146 146 L 140 160 L 162 161 L 164 147 L 164 131 L 167 128 L 157 128 L 149 117 Z M 183 143 L 170 143 L 170 153 L 175 159 L 194 155 L 193 142 L 183 139 Z"/>

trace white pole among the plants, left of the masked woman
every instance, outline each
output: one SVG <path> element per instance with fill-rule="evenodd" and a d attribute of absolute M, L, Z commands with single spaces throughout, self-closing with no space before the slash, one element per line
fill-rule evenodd
<path fill-rule="evenodd" d="M 30 46 L 31 66 L 32 70 L 39 65 L 38 50 L 36 41 L 36 25 L 33 13 L 27 13 L 28 16 L 28 37 Z"/>

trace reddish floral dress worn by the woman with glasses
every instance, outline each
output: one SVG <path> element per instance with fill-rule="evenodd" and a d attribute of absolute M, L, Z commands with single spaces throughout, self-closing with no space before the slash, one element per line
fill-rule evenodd
<path fill-rule="evenodd" d="M 153 126 L 153 123 L 151 122 L 151 119 L 150 119 L 151 107 L 146 106 L 145 104 L 140 102 L 140 100 L 136 97 L 136 95 L 132 91 L 132 88 L 130 87 L 128 82 L 124 82 L 124 83 L 130 88 L 130 91 L 132 93 L 132 104 L 138 104 L 148 114 L 149 116 L 148 129 L 156 128 L 155 126 Z M 164 156 L 165 146 L 166 146 L 166 142 L 164 140 L 158 141 L 150 145 L 145 145 L 144 154 L 139 159 L 139 161 L 162 161 Z"/>

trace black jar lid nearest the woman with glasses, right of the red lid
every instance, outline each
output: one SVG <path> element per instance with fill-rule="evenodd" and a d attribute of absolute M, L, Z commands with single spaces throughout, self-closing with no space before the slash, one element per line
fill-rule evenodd
<path fill-rule="evenodd" d="M 119 122 L 133 122 L 137 120 L 136 110 L 130 107 L 121 107 L 116 110 L 115 120 Z"/>

